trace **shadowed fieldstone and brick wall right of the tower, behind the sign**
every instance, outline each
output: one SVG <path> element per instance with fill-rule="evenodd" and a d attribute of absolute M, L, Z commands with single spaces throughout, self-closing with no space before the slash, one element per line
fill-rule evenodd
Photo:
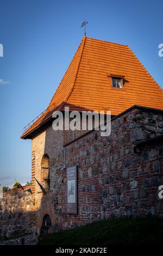
<path fill-rule="evenodd" d="M 78 166 L 78 215 L 68 215 L 64 228 L 120 216 L 163 216 L 157 197 L 163 184 L 162 112 L 131 109 L 111 122 L 111 135 L 93 131 L 68 144 L 66 168 Z M 135 145 L 139 143 L 135 147 Z M 66 191 L 66 172 L 64 175 Z M 62 195 L 66 211 L 66 193 Z"/>

